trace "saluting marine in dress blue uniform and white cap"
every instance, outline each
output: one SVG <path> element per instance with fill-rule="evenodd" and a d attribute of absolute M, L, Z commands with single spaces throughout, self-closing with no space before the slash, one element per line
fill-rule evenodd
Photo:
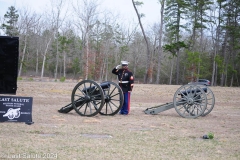
<path fill-rule="evenodd" d="M 133 74 L 128 69 L 127 61 L 121 61 L 121 65 L 113 68 L 112 73 L 118 76 L 119 86 L 122 88 L 124 94 L 124 102 L 120 114 L 127 115 L 130 112 L 130 96 L 134 84 Z"/>

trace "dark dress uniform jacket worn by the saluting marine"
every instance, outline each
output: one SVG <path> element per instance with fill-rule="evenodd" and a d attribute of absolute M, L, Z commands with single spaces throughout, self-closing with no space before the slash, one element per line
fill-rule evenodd
<path fill-rule="evenodd" d="M 119 86 L 122 88 L 123 93 L 132 91 L 133 86 L 131 84 L 134 83 L 134 78 L 130 70 L 114 68 L 112 73 L 118 75 Z"/>

